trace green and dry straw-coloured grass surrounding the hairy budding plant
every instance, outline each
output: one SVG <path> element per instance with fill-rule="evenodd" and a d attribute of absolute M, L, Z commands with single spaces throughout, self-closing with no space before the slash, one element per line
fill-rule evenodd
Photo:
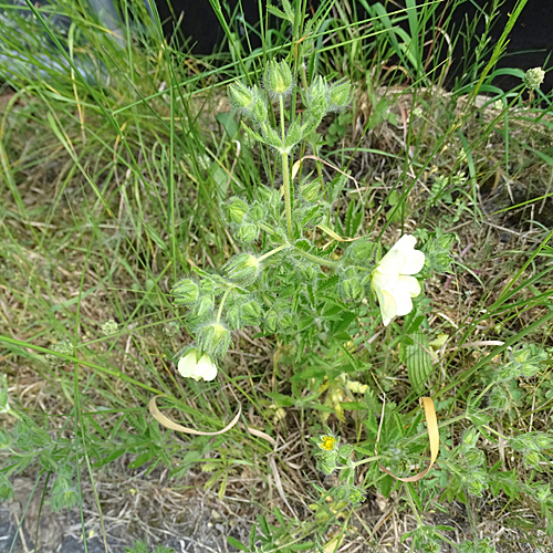
<path fill-rule="evenodd" d="M 542 530 L 552 525 L 553 505 L 549 497 L 538 501 L 536 490 L 551 481 L 553 448 L 538 451 L 513 438 L 551 436 L 553 123 L 543 108 L 551 95 L 529 97 L 522 81 L 509 92 L 493 86 L 510 29 L 493 49 L 484 34 L 467 76 L 446 93 L 447 55 L 461 35 L 448 34 L 451 22 L 439 19 L 438 2 L 365 6 L 369 19 L 359 20 L 356 2 L 327 0 L 307 28 L 305 3 L 293 2 L 290 21 L 262 11 L 260 29 L 247 29 L 263 40 L 251 52 L 250 36 L 237 41 L 240 9 L 230 14 L 213 0 L 231 53 L 198 60 L 164 42 L 159 19 L 152 21 L 139 1 L 125 3 L 121 43 L 75 2 L 55 8 L 74 23 L 66 34 L 44 9 L 29 4 L 28 17 L 4 8 L 0 359 L 11 410 L 2 415 L 2 474 L 34 478 L 41 505 L 79 511 L 83 498 L 102 518 L 109 509 L 106 471 L 126 494 L 140 469 L 154 481 L 167 468 L 180 497 L 194 482 L 208 499 L 240 505 L 249 524 L 260 515 L 257 540 L 267 552 L 314 549 L 309 542 L 324 551 L 347 542 L 399 547 L 385 532 L 396 518 L 409 531 L 418 525 L 409 546 L 431 551 L 436 535 L 426 528 L 440 523 L 432 513 L 452 525 L 456 501 L 465 504 L 467 534 L 484 521 L 487 536 L 503 547 L 515 535 L 547 551 Z M 288 17 L 286 3 L 279 8 Z M 421 241 L 438 229 L 455 233 L 453 272 L 427 275 L 426 298 L 403 324 L 384 330 L 368 298 L 355 306 L 355 332 L 344 328 L 348 340 L 327 349 L 299 351 L 274 333 L 240 331 L 217 380 L 184 379 L 174 358 L 191 336 L 170 288 L 192 268 L 219 270 L 239 251 L 222 201 L 251 201 L 260 187 L 281 184 L 269 148 L 248 140 L 236 113 L 225 115 L 226 86 L 259 82 L 267 61 L 284 56 L 300 83 L 322 74 L 355 86 L 353 116 L 338 116 L 332 132 L 325 119 L 320 142 L 294 152 L 294 159 L 315 154 L 358 181 L 357 189 L 313 163 L 324 177 L 327 225 L 386 246 L 399 230 L 417 231 Z M 417 330 L 419 316 L 426 322 Z M 109 320 L 117 330 L 105 335 Z M 532 376 L 499 380 L 514 363 Z M 388 457 L 396 471 L 416 465 L 427 437 L 415 380 L 437 406 L 437 468 L 404 487 L 375 462 L 359 463 L 366 503 L 353 508 L 332 497 L 337 482 L 321 477 L 307 437 L 328 425 L 341 444 L 357 447 L 357 460 L 373 456 L 385 392 L 380 451 L 400 451 L 397 462 Z M 355 392 L 362 385 L 364 394 Z M 238 404 L 241 426 L 217 437 L 176 435 L 147 410 L 157 394 L 169 398 L 159 401 L 164 413 L 187 427 L 217 431 Z M 278 438 L 278 448 L 246 426 Z M 470 428 L 480 432 L 479 447 L 462 450 Z M 467 467 L 483 474 L 482 489 L 467 491 Z M 0 490 L 10 493 L 3 480 Z M 83 508 L 81 517 L 90 517 Z M 244 522 L 233 535 L 247 543 L 248 531 Z M 438 531 L 453 551 L 455 533 Z"/>

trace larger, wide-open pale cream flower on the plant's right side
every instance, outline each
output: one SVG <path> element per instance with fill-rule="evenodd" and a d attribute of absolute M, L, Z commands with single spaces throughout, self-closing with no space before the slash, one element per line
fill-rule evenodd
<path fill-rule="evenodd" d="M 425 264 L 425 254 L 415 250 L 417 239 L 403 236 L 384 255 L 373 271 L 371 285 L 378 298 L 384 325 L 396 316 L 413 310 L 413 298 L 420 294 L 420 284 L 410 274 L 418 273 Z"/>

